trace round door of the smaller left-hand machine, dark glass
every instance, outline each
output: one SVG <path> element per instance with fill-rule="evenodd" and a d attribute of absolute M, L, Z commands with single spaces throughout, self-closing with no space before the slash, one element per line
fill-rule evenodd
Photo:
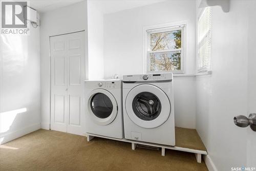
<path fill-rule="evenodd" d="M 117 102 L 114 96 L 103 89 L 90 93 L 88 100 L 89 115 L 93 121 L 100 125 L 113 122 L 117 115 Z"/>

